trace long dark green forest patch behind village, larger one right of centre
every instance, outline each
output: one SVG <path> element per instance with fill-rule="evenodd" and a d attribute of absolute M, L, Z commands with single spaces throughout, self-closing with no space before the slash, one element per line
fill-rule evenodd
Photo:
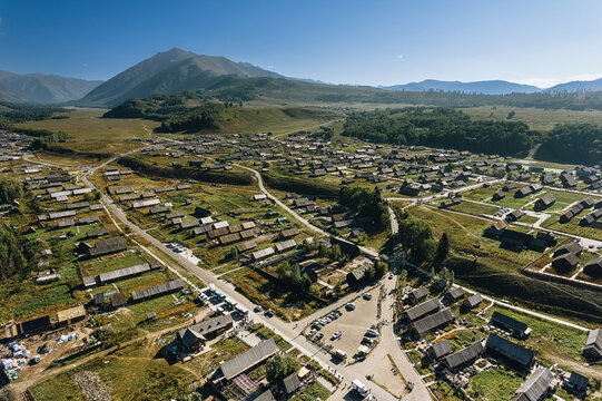
<path fill-rule="evenodd" d="M 526 154 L 536 136 L 520 121 L 475 121 L 446 108 L 405 108 L 352 114 L 343 135 L 374 143 L 423 145 L 500 155 Z"/>

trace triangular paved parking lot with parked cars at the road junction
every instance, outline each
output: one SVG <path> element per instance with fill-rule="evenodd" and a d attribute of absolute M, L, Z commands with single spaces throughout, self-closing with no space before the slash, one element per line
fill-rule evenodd
<path fill-rule="evenodd" d="M 334 320 L 322 327 L 315 335 L 323 334 L 322 342 L 324 345 L 332 344 L 334 350 L 342 350 L 348 356 L 348 362 L 353 362 L 353 356 L 357 353 L 357 348 L 361 345 L 364 334 L 372 324 L 376 324 L 376 302 L 378 299 L 379 287 L 367 292 L 372 295 L 372 300 L 367 301 L 359 296 L 353 303 L 354 311 L 348 311 L 342 307 L 342 316 Z M 364 293 L 362 293 L 364 294 Z M 307 329 L 309 331 L 310 327 Z M 332 340 L 335 332 L 341 331 L 343 334 L 337 340 Z"/>

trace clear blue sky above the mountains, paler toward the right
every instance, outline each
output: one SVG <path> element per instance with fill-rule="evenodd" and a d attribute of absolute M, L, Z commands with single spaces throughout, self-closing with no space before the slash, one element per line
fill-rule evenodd
<path fill-rule="evenodd" d="M 602 1 L 0 0 L 0 69 L 108 79 L 174 47 L 394 85 L 602 77 Z"/>

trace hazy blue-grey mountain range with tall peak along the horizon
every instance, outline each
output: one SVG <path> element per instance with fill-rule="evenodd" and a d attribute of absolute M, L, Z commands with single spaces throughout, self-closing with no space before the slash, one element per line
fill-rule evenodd
<path fill-rule="evenodd" d="M 602 78 L 570 81 L 547 89 L 505 80 L 461 82 L 434 79 L 378 88 L 355 87 L 284 77 L 248 62 L 235 62 L 217 56 L 199 56 L 178 48 L 158 52 L 107 81 L 0 71 L 0 101 L 13 104 L 114 107 L 130 98 L 199 89 L 220 96 L 250 92 L 254 98 L 278 101 L 298 101 L 302 98 L 344 100 L 349 96 L 385 97 L 387 91 L 458 91 L 483 95 L 593 91 L 602 90 Z M 292 90 L 298 92 L 293 94 Z"/>

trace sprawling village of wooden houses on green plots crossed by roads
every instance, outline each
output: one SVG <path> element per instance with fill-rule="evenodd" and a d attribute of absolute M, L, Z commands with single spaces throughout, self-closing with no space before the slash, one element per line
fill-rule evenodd
<path fill-rule="evenodd" d="M 493 397 L 485 379 L 512 400 L 600 395 L 602 333 L 583 324 L 596 311 L 533 312 L 391 243 L 416 216 L 454 252 L 586 302 L 602 290 L 599 166 L 325 133 L 156 136 L 95 167 L 4 134 L 1 175 L 27 204 L 2 218 L 34 265 L 2 293 L 6 381 L 28 400 L 66 380 L 73 397 L 120 399 L 110 369 L 136 356 L 177 370 L 174 398 L 195 383 L 228 400 L 478 400 Z M 343 186 L 378 194 L 391 226 Z"/>

